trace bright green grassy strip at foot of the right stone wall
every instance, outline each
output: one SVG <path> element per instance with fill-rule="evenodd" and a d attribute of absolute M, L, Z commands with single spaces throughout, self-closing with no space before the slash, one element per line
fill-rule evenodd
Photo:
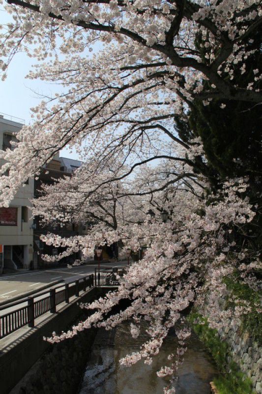
<path fill-rule="evenodd" d="M 193 312 L 189 322 L 216 362 L 221 375 L 214 379 L 219 394 L 254 394 L 252 382 L 233 361 L 228 363 L 229 347 L 219 339 L 216 329 L 210 328 L 207 319 Z"/>

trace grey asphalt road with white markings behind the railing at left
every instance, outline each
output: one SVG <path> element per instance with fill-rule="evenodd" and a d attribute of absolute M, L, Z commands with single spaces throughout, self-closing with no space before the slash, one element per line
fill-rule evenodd
<path fill-rule="evenodd" d="M 106 263 L 107 267 L 125 265 L 123 262 Z M 97 264 L 80 265 L 72 268 L 52 268 L 39 271 L 26 271 L 0 276 L 0 302 L 23 296 L 32 290 L 40 291 L 51 282 L 63 280 L 64 283 L 85 277 L 94 272 Z M 52 285 L 51 285 L 52 286 Z"/>

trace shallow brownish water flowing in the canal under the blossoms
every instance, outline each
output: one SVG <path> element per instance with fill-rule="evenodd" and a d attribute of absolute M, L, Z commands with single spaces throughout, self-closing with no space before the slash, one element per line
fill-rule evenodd
<path fill-rule="evenodd" d="M 131 367 L 120 365 L 119 360 L 137 351 L 143 339 L 146 339 L 144 335 L 136 340 L 131 337 L 128 323 L 113 331 L 99 329 L 79 394 L 162 394 L 168 379 L 158 378 L 156 371 L 166 365 L 170 353 L 175 353 L 175 333 L 168 335 L 151 365 L 143 361 Z M 189 340 L 177 375 L 176 394 L 210 394 L 209 382 L 217 375 L 217 370 L 195 334 Z"/>

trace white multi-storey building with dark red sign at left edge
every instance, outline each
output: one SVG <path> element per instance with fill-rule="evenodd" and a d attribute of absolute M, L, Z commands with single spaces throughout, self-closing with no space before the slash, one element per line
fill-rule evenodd
<path fill-rule="evenodd" d="M 12 149 L 11 140 L 23 127 L 22 123 L 0 115 L 0 149 Z M 0 159 L 0 165 L 4 163 Z M 29 268 L 33 261 L 33 220 L 30 202 L 34 194 L 34 180 L 29 179 L 16 194 L 8 208 L 0 208 L 0 245 L 3 245 L 5 268 Z M 1 265 L 1 262 L 0 262 Z"/>

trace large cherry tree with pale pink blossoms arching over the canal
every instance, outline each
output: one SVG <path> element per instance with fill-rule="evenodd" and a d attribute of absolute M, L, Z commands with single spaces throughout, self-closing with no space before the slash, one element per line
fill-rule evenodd
<path fill-rule="evenodd" d="M 240 106 L 253 116 L 261 106 L 261 1 L 7 0 L 5 7 L 13 22 L 0 36 L 2 78 L 23 50 L 38 60 L 28 77 L 58 83 L 63 91 L 32 108 L 32 123 L 17 134 L 15 149 L 0 153 L 6 160 L 1 204 L 8 206 L 60 149 L 74 146 L 85 164 L 72 178 L 44 187 L 34 214 L 62 225 L 87 221 L 89 233 L 70 239 L 50 234 L 45 241 L 84 255 L 97 244 L 119 242 L 134 253 L 148 246 L 117 293 L 87 306 L 96 311 L 86 322 L 51 340 L 126 319 L 136 337 L 146 319 L 150 339 L 122 362 L 150 363 L 169 328 L 183 322 L 181 312 L 201 305 L 207 289 L 214 327 L 248 313 L 247 304 L 221 316 L 218 300 L 227 275 L 255 290 L 259 285 L 260 246 L 253 239 L 261 220 L 261 173 L 249 168 L 258 124 L 242 144 L 246 154 L 231 154 L 223 167 L 210 143 L 217 123 L 210 112 L 220 111 L 223 119 L 225 111 L 230 130 L 228 108 L 237 114 Z M 259 149 L 252 152 L 258 159 Z M 238 170 L 246 157 L 248 169 Z M 131 306 L 104 319 L 121 298 Z M 177 328 L 177 336 L 181 347 L 161 376 L 173 375 L 182 358 L 188 330 Z M 166 393 L 173 392 L 171 382 Z"/>

